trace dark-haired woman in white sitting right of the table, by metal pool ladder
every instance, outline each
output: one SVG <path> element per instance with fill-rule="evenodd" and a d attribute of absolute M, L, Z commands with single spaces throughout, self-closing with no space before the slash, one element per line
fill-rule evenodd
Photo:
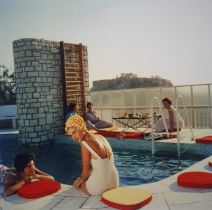
<path fill-rule="evenodd" d="M 167 125 L 168 131 L 176 132 L 177 131 L 177 111 L 172 106 L 172 101 L 170 99 L 164 98 L 162 100 L 162 103 L 165 108 L 164 118 L 165 118 L 165 123 Z M 183 125 L 184 125 L 183 118 L 179 116 L 179 130 L 183 128 Z M 156 128 L 156 132 L 165 131 L 165 126 L 164 126 L 162 118 L 156 121 L 155 128 Z"/>

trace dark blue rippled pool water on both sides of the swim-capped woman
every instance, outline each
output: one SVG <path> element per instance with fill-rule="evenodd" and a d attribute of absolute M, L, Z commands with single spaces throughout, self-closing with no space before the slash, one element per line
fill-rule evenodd
<path fill-rule="evenodd" d="M 159 155 L 152 159 L 149 151 L 113 148 L 115 164 L 120 174 L 121 185 L 135 185 L 159 181 L 184 168 L 189 167 L 205 156 L 192 154 L 181 157 L 181 165 L 176 155 Z M 36 166 L 53 175 L 58 181 L 72 184 L 81 173 L 81 153 L 77 144 L 59 143 L 44 146 L 21 146 L 16 135 L 0 135 L 0 163 L 13 166 L 19 152 L 33 152 Z"/>

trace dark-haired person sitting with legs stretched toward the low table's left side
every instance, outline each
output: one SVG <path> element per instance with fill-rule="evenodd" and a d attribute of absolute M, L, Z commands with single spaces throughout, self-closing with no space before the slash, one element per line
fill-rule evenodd
<path fill-rule="evenodd" d="M 85 114 L 86 125 L 88 129 L 101 129 L 101 128 L 111 128 L 113 124 L 101 120 L 98 116 L 98 113 L 93 110 L 93 104 L 91 102 L 87 103 L 87 112 Z"/>

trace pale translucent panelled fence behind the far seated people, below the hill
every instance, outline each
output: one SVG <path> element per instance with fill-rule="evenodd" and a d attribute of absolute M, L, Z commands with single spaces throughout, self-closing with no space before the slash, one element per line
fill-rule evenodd
<path fill-rule="evenodd" d="M 184 106 L 179 104 L 178 111 L 185 120 L 185 128 L 190 128 L 190 124 L 192 128 L 212 128 L 212 84 L 99 91 L 92 92 L 90 100 L 103 119 L 112 121 L 112 117 L 121 116 L 125 112 L 150 113 L 154 96 L 160 100 L 170 98 L 175 107 L 178 95 L 183 95 L 186 113 L 191 119 L 189 122 L 183 111 Z M 154 111 L 159 112 L 159 107 L 154 107 Z"/>

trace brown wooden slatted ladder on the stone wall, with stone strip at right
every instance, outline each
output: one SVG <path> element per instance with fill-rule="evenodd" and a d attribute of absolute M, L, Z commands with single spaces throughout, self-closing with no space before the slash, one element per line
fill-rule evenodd
<path fill-rule="evenodd" d="M 77 104 L 77 111 L 84 116 L 89 94 L 87 47 L 82 44 L 60 42 L 63 71 L 64 112 L 69 103 Z"/>

